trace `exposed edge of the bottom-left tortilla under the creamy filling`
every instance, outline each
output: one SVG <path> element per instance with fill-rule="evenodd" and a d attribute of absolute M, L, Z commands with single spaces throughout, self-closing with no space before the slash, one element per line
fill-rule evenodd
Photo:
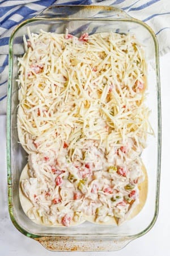
<path fill-rule="evenodd" d="M 31 208 L 33 207 L 33 204 L 31 203 L 31 201 L 28 199 L 28 197 L 26 197 L 22 191 L 22 187 L 21 187 L 21 181 L 24 179 L 29 179 L 29 175 L 28 175 L 28 164 L 26 164 L 26 166 L 24 167 L 22 174 L 20 175 L 20 180 L 19 180 L 19 199 L 20 199 L 20 204 L 22 205 L 23 211 L 24 213 L 28 216 L 28 211 L 31 210 Z M 29 217 L 28 217 L 29 218 Z M 48 221 L 46 223 L 44 223 L 42 221 L 42 218 L 40 216 L 38 216 L 37 214 L 37 218 L 30 218 L 30 220 L 32 220 L 33 222 L 35 222 L 36 224 L 39 225 L 44 225 L 44 226 L 51 226 L 51 227 L 65 227 L 62 224 L 52 224 L 52 222 Z M 71 220 L 70 225 L 69 226 L 75 226 L 75 225 L 79 225 L 82 224 L 85 220 L 84 216 L 82 216 L 82 219 L 78 222 L 75 222 L 73 220 Z"/>

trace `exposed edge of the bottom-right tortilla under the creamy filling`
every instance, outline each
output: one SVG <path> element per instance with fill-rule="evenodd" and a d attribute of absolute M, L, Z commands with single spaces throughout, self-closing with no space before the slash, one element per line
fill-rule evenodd
<path fill-rule="evenodd" d="M 147 199 L 147 191 L 148 191 L 148 176 L 145 165 L 142 166 L 143 174 L 145 175 L 145 180 L 138 185 L 139 189 L 139 204 L 135 204 L 136 201 L 131 205 L 129 211 L 125 214 L 124 218 L 116 218 L 116 217 L 109 217 L 108 221 L 106 222 L 98 222 L 96 221 L 96 216 L 86 216 L 86 220 L 98 225 L 121 225 L 122 222 L 126 220 L 131 220 L 137 216 L 139 212 L 141 212 L 142 208 L 144 207 Z"/>

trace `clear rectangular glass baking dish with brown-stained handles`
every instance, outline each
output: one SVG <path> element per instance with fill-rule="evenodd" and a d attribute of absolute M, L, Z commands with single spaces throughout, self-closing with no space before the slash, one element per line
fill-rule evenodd
<path fill-rule="evenodd" d="M 70 228 L 37 225 L 24 214 L 19 201 L 19 177 L 27 163 L 27 154 L 18 143 L 16 116 L 18 106 L 17 58 L 24 53 L 23 35 L 45 31 L 79 36 L 84 32 L 118 32 L 134 34 L 145 48 L 148 66 L 147 106 L 151 109 L 150 122 L 155 137 L 148 136 L 148 146 L 142 153 L 148 174 L 148 196 L 145 207 L 133 219 L 121 226 L 96 225 L 84 222 Z M 7 100 L 7 174 L 8 208 L 16 228 L 56 251 L 113 251 L 148 232 L 154 225 L 159 208 L 161 153 L 161 111 L 158 42 L 147 24 L 133 19 L 124 11 L 107 6 L 50 6 L 35 18 L 25 20 L 12 32 L 9 44 L 9 73 Z"/>

